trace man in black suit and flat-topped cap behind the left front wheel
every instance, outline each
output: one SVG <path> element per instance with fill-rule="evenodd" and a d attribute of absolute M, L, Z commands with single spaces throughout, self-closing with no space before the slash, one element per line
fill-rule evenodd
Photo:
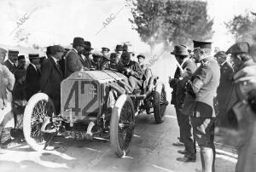
<path fill-rule="evenodd" d="M 28 54 L 30 60 L 29 66 L 26 68 L 25 90 L 26 100 L 29 100 L 32 95 L 35 95 L 40 90 L 41 73 L 37 66 L 39 65 L 39 54 Z"/>

